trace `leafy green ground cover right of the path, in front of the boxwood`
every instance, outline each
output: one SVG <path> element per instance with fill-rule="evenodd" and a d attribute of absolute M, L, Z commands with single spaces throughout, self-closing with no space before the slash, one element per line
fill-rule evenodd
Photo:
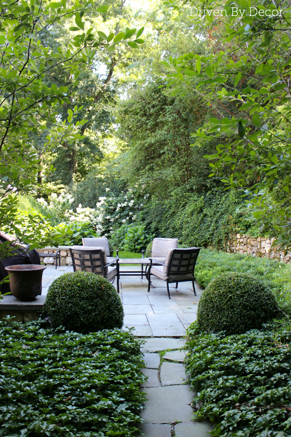
<path fill-rule="evenodd" d="M 188 335 L 197 418 L 212 421 L 212 436 L 291 436 L 290 324 L 224 336 L 194 323 Z"/>

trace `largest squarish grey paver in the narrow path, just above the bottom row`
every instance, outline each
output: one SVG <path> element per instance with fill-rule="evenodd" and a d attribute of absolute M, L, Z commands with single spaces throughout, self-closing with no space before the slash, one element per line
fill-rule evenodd
<path fill-rule="evenodd" d="M 189 386 L 143 388 L 147 401 L 142 418 L 146 423 L 189 422 L 193 418 L 190 403 L 194 393 Z"/>

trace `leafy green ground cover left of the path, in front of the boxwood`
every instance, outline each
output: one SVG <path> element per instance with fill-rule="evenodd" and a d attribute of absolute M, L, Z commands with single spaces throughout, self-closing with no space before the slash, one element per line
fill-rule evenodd
<path fill-rule="evenodd" d="M 144 397 L 140 342 L 0 321 L 1 436 L 136 436 Z"/>

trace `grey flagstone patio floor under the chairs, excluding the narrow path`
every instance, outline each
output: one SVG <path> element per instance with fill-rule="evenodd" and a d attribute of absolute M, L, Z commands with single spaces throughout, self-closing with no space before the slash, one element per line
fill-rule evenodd
<path fill-rule="evenodd" d="M 139 271 L 139 267 L 121 266 L 121 271 Z M 72 267 L 48 267 L 43 273 L 42 294 L 57 277 L 73 271 Z M 134 335 L 140 337 L 181 337 L 186 328 L 196 320 L 197 306 L 202 290 L 195 284 L 194 295 L 191 282 L 178 284 L 178 290 L 170 287 L 171 299 L 168 299 L 164 281 L 152 277 L 151 288 L 147 292 L 144 277 L 123 276 L 120 279 L 120 298 L 124 307 L 124 329 L 134 328 Z M 114 283 L 116 287 L 116 284 Z"/>

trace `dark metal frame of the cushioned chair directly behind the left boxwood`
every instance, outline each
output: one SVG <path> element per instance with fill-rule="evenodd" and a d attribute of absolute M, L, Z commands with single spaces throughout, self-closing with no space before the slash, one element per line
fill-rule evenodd
<path fill-rule="evenodd" d="M 74 252 L 73 252 L 74 251 Z M 88 250 L 88 251 L 78 251 L 77 249 L 70 249 L 70 254 L 71 254 L 71 258 L 72 258 L 72 264 L 73 264 L 73 270 L 74 271 L 79 271 L 76 269 L 76 264 L 75 264 L 75 255 L 79 255 L 79 257 L 76 256 L 76 259 L 78 259 L 80 261 L 81 264 L 81 271 L 88 271 L 87 269 L 91 269 L 93 273 L 97 274 L 97 275 L 101 275 L 103 276 L 103 278 L 106 279 L 106 273 L 105 273 L 105 269 L 106 267 L 112 266 L 113 264 L 116 263 L 116 270 L 117 270 L 117 293 L 119 293 L 119 264 L 118 264 L 118 258 L 114 258 L 110 263 L 105 264 L 104 263 L 104 255 L 101 249 L 94 249 L 94 250 Z M 92 255 L 98 254 L 99 258 L 93 258 Z M 89 255 L 89 258 L 83 258 L 81 255 Z M 86 263 L 88 263 L 88 261 L 90 261 L 90 266 L 85 266 L 84 265 L 84 261 L 86 261 Z M 96 269 L 100 269 L 100 267 L 102 268 L 102 273 L 101 272 L 96 272 Z M 112 282 L 114 281 L 115 276 L 113 277 Z"/>

